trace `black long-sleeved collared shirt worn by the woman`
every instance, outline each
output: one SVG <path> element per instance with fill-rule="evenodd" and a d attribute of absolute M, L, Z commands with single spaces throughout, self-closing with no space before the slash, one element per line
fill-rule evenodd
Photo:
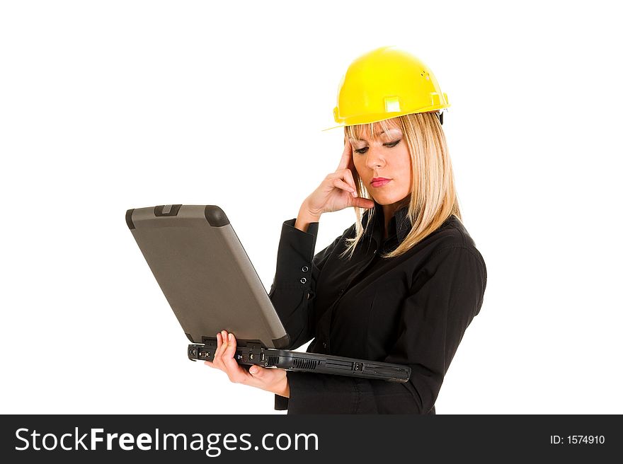
<path fill-rule="evenodd" d="M 411 231 L 407 207 L 384 239 L 382 206 L 353 257 L 339 258 L 355 224 L 314 255 L 318 222 L 307 232 L 284 221 L 269 296 L 290 334 L 289 349 L 406 364 L 406 383 L 288 371 L 288 414 L 435 414 L 450 361 L 483 303 L 486 266 L 456 216 L 399 257 L 381 258 Z M 364 211 L 365 226 L 370 214 Z"/>

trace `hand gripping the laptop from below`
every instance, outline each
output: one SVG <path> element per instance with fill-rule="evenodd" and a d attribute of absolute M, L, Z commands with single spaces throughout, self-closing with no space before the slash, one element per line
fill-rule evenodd
<path fill-rule="evenodd" d="M 243 383 L 290 398 L 290 385 L 287 383 L 285 370 L 251 366 L 247 371 L 234 359 L 234 354 L 236 354 L 236 337 L 231 333 L 228 334 L 227 330 L 222 330 L 217 334 L 214 361 L 205 361 L 205 365 L 224 371 L 229 381 L 233 383 Z"/>

